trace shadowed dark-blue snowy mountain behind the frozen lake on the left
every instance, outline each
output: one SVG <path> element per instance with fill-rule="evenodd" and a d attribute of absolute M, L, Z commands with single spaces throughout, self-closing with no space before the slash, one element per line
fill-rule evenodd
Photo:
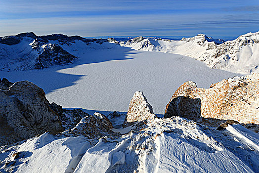
<path fill-rule="evenodd" d="M 80 57 L 78 55 L 86 53 L 89 48 L 98 48 L 103 42 L 106 40 L 62 34 L 36 36 L 22 33 L 1 37 L 0 70 L 32 70 L 70 64 Z"/>

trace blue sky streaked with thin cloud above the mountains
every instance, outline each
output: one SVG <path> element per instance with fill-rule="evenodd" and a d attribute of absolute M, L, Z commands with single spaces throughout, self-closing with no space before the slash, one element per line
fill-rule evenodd
<path fill-rule="evenodd" d="M 259 0 L 0 0 L 0 36 L 237 37 L 259 31 Z"/>

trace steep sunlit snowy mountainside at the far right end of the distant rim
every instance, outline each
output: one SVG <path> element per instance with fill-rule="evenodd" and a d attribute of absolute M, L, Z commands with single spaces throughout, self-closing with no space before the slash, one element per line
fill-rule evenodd
<path fill-rule="evenodd" d="M 211 68 L 236 73 L 259 72 L 259 32 L 239 36 L 194 57 L 204 61 Z"/>

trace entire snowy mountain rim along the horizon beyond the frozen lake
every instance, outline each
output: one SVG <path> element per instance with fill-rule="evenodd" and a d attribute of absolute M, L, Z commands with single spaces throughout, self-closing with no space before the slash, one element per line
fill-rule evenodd
<path fill-rule="evenodd" d="M 204 34 L 175 41 L 156 37 L 86 39 L 62 34 L 22 33 L 0 38 L 0 70 L 32 70 L 70 64 L 80 58 L 78 55 L 87 54 L 88 49 L 118 45 L 142 51 L 177 53 L 203 61 L 210 68 L 234 73 L 259 72 L 259 32 L 227 42 Z"/>

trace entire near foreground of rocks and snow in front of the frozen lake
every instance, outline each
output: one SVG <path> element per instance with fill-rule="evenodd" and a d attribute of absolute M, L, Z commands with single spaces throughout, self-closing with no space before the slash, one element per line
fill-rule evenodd
<path fill-rule="evenodd" d="M 208 89 L 187 82 L 158 118 L 140 91 L 127 115 L 88 115 L 3 79 L 0 172 L 258 173 L 258 85 L 258 74 Z"/>

